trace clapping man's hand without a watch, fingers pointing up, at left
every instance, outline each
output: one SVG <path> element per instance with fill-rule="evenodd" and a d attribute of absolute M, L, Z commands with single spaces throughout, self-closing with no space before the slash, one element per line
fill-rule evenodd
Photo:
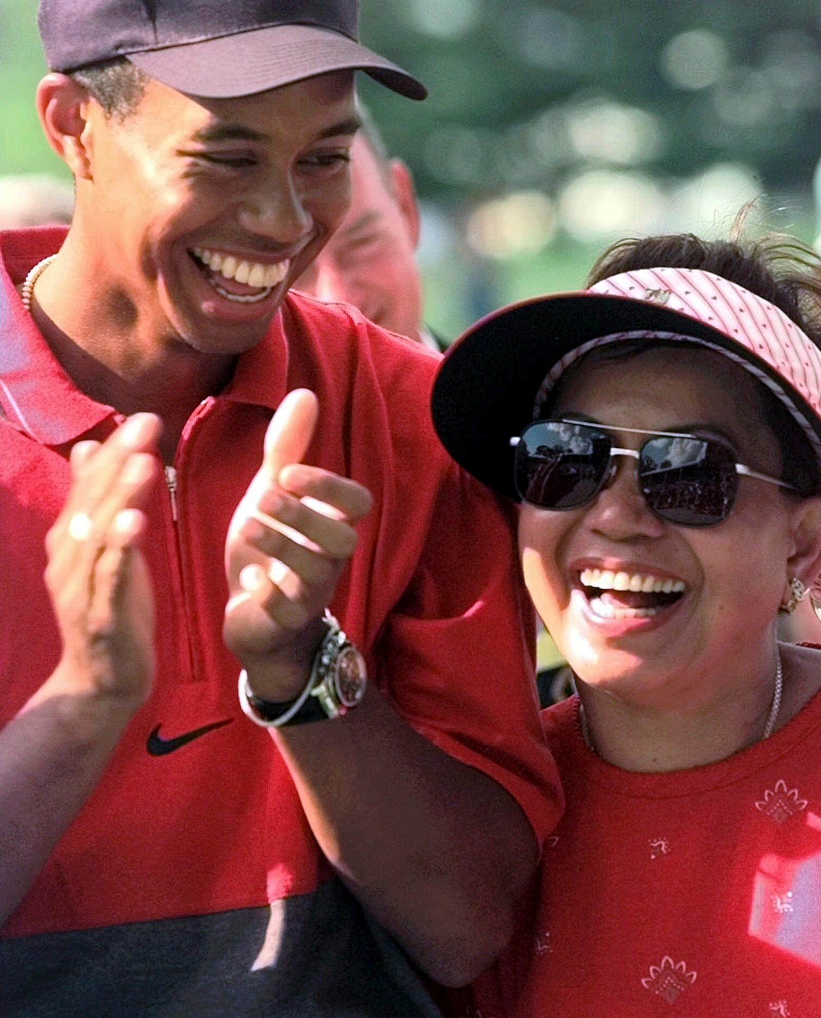
<path fill-rule="evenodd" d="M 52 681 L 134 709 L 154 673 L 154 601 L 139 545 L 160 430 L 154 414 L 138 413 L 104 444 L 77 443 L 71 490 L 46 538 L 46 584 L 63 639 Z"/>

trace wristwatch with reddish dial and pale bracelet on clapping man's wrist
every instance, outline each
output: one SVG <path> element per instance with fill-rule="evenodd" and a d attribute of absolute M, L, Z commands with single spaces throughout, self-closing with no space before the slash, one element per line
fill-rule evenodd
<path fill-rule="evenodd" d="M 327 721 L 362 702 L 368 688 L 365 659 L 329 612 L 325 622 L 328 631 L 314 657 L 308 683 L 295 699 L 285 703 L 262 699 L 252 692 L 248 672 L 239 673 L 239 705 L 256 725 L 283 728 Z"/>

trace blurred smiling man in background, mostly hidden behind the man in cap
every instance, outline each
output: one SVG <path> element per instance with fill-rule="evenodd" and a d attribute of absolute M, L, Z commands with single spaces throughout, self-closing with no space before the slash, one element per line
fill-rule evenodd
<path fill-rule="evenodd" d="M 360 107 L 363 128 L 350 150 L 350 208 L 296 282 L 320 300 L 340 300 L 391 332 L 443 344 L 423 323 L 416 263 L 420 213 L 410 170 L 388 156 L 376 124 Z"/>

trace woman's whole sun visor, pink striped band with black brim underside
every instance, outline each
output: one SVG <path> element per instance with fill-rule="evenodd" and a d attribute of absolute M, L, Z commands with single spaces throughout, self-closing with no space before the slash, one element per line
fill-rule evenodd
<path fill-rule="evenodd" d="M 625 272 L 477 322 L 439 365 L 431 410 L 440 441 L 469 473 L 517 500 L 510 436 L 541 415 L 571 364 L 633 338 L 698 343 L 729 357 L 783 403 L 821 464 L 821 350 L 769 301 L 702 269 Z"/>

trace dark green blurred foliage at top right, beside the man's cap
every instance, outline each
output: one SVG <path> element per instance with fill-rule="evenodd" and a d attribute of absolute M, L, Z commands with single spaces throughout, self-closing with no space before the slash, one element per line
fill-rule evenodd
<path fill-rule="evenodd" d="M 689 175 L 740 160 L 768 188 L 791 189 L 807 185 L 821 148 L 814 0 L 364 0 L 362 20 L 364 38 L 430 89 L 428 102 L 409 110 L 367 90 L 389 145 L 410 162 L 425 194 L 550 186 L 585 161 L 564 145 L 568 113 L 606 98 L 658 125 L 656 144 L 636 161 L 653 173 Z M 691 76 L 682 87 L 665 64 L 676 58 L 676 37 L 694 32 L 702 47 L 688 54 L 683 40 L 678 62 L 709 62 L 712 37 L 714 79 L 708 67 L 702 81 Z M 540 118 L 541 133 L 528 131 Z M 478 143 L 478 157 L 462 152 L 462 166 L 454 158 L 443 173 L 431 149 L 454 137 L 462 149 Z"/>

